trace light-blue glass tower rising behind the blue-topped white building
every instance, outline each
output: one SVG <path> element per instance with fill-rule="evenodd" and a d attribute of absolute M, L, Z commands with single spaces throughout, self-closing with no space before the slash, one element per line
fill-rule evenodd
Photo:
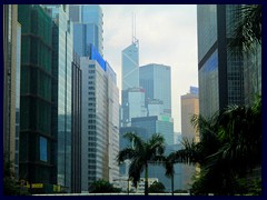
<path fill-rule="evenodd" d="M 70 19 L 73 22 L 73 47 L 80 57 L 89 53 L 89 44 L 93 44 L 102 54 L 102 9 L 98 4 L 70 6 Z"/>

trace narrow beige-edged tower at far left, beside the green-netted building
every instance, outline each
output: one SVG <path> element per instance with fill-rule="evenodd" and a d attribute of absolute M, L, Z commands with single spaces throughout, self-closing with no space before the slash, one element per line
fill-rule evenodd
<path fill-rule="evenodd" d="M 19 173 L 21 26 L 18 6 L 3 4 L 3 152 Z"/>

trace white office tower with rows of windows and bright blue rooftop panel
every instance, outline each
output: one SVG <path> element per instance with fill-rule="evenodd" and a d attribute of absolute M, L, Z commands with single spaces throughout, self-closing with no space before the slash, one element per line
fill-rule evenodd
<path fill-rule="evenodd" d="M 119 104 L 116 73 L 90 46 L 89 57 L 81 57 L 82 69 L 82 158 L 81 190 L 99 179 L 115 179 L 118 167 Z"/>

